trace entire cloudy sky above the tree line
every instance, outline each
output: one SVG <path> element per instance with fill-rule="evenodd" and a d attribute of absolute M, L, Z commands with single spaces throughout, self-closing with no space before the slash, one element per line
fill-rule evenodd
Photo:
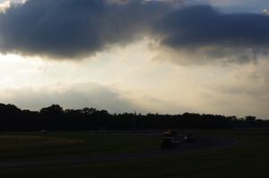
<path fill-rule="evenodd" d="M 0 0 L 0 102 L 269 119 L 267 0 Z"/>

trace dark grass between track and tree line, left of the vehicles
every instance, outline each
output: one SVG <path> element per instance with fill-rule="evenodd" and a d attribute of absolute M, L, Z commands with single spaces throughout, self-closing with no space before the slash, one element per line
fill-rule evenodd
<path fill-rule="evenodd" d="M 159 148 L 159 143 L 157 136 L 92 132 L 4 133 L 0 134 L 0 162 L 98 157 L 154 150 Z"/>

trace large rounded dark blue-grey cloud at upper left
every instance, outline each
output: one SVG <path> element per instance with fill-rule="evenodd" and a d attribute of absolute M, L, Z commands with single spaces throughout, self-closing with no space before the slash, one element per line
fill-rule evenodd
<path fill-rule="evenodd" d="M 143 0 L 28 0 L 0 14 L 2 53 L 73 58 L 126 44 L 169 8 Z"/>

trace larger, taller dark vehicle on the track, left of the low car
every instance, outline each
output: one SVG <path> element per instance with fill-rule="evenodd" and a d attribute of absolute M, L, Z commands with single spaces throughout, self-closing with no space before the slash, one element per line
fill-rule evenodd
<path fill-rule="evenodd" d="M 177 148 L 179 143 L 178 133 L 175 131 L 164 131 L 161 140 L 161 148 Z"/>

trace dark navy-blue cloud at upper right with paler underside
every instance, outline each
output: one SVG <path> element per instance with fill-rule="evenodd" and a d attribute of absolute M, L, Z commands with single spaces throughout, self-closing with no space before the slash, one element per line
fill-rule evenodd
<path fill-rule="evenodd" d="M 157 27 L 161 45 L 213 59 L 247 62 L 268 53 L 269 16 L 265 14 L 222 14 L 211 6 L 196 5 L 166 14 Z"/>

